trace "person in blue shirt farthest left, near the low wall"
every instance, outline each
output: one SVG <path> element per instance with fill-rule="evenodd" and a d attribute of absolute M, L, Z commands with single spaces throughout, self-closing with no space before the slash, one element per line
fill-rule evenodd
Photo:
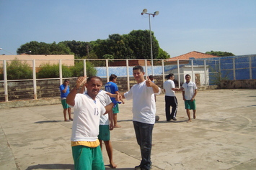
<path fill-rule="evenodd" d="M 63 115 L 64 115 L 64 121 L 73 121 L 73 118 L 71 118 L 71 108 L 66 103 L 66 97 L 69 95 L 69 80 L 64 80 L 63 84 L 60 85 L 61 90 L 61 104 L 63 107 Z M 66 118 L 66 111 L 68 110 L 69 113 L 69 120 Z"/>

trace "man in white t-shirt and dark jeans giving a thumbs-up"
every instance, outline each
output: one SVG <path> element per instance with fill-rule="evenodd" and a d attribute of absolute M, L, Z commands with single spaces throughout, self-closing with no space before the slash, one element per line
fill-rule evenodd
<path fill-rule="evenodd" d="M 122 94 L 123 98 L 133 100 L 133 127 L 142 159 L 141 164 L 135 169 L 151 169 L 152 131 L 156 115 L 154 94 L 161 93 L 161 89 L 149 77 L 147 80 L 144 79 L 144 74 L 143 67 L 133 67 L 133 77 L 137 84 Z"/>

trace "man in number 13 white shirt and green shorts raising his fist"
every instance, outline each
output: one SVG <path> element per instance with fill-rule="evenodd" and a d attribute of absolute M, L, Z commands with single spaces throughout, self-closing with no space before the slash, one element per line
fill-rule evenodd
<path fill-rule="evenodd" d="M 100 77 L 92 76 L 87 79 L 86 94 L 77 93 L 81 85 L 86 82 L 86 77 L 78 77 L 76 87 L 71 90 L 66 98 L 74 108 L 74 122 L 72 126 L 71 146 L 75 169 L 105 169 L 98 140 L 100 116 L 109 113 L 115 103 L 103 106 L 96 98 L 102 87 Z M 117 95 L 116 100 L 119 100 Z"/>

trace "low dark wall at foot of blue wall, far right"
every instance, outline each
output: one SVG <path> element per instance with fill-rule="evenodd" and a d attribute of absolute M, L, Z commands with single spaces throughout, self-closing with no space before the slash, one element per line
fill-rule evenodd
<path fill-rule="evenodd" d="M 222 80 L 221 89 L 247 88 L 256 89 L 256 79 L 252 80 Z"/>

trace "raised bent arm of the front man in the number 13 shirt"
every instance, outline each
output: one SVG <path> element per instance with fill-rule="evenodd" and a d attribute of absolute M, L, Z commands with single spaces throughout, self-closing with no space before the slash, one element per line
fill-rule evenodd
<path fill-rule="evenodd" d="M 76 80 L 76 86 L 71 90 L 69 95 L 66 97 L 66 103 L 69 105 L 74 106 L 75 105 L 75 98 L 76 93 L 79 90 L 80 86 L 84 84 L 84 82 L 87 80 L 87 77 L 78 77 Z"/>

